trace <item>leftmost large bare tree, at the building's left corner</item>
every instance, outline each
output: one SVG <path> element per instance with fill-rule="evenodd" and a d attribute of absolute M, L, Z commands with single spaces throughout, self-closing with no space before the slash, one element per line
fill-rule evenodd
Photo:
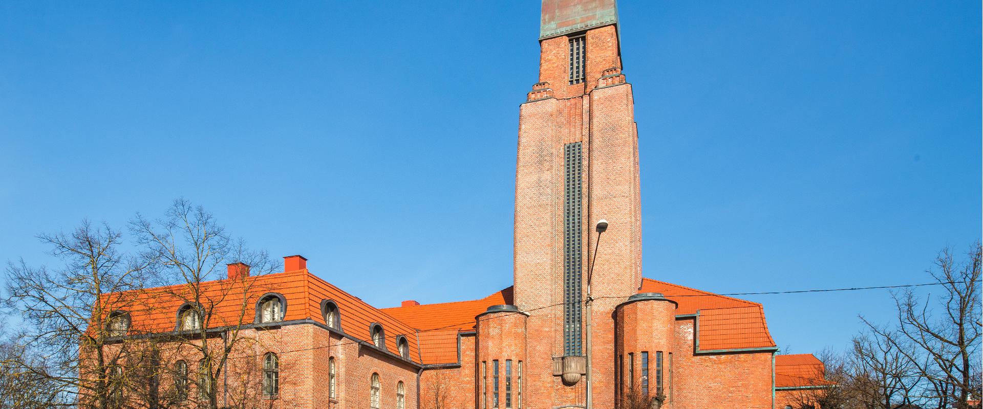
<path fill-rule="evenodd" d="M 38 238 L 63 265 L 49 270 L 29 267 L 24 260 L 8 264 L 5 307 L 20 313 L 26 329 L 23 346 L 45 357 L 43 368 L 29 360 L 22 360 L 20 368 L 80 405 L 118 407 L 129 387 L 121 374 L 132 364 L 128 357 L 137 347 L 125 335 L 140 331 L 130 326 L 130 314 L 150 303 L 103 294 L 141 291 L 146 260 L 122 251 L 122 234 L 106 225 L 83 222 L 68 234 Z"/>

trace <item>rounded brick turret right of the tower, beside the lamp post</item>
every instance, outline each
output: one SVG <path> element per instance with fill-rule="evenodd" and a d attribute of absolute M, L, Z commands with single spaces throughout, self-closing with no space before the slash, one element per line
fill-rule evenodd
<path fill-rule="evenodd" d="M 668 395 L 676 306 L 661 293 L 644 292 L 615 307 L 617 395 Z"/>

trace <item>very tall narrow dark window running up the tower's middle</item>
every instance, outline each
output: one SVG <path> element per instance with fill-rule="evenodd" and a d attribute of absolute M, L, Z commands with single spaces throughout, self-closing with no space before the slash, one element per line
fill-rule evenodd
<path fill-rule="evenodd" d="M 581 147 L 563 145 L 563 349 L 567 356 L 580 355 L 580 241 Z"/>

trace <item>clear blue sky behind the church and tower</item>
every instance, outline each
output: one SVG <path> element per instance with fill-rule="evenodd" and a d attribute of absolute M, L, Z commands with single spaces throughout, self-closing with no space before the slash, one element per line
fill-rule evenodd
<path fill-rule="evenodd" d="M 979 2 L 619 12 L 646 277 L 925 282 L 980 236 Z M 0 260 L 183 196 L 379 307 L 508 286 L 538 25 L 537 1 L 0 3 Z M 792 352 L 892 318 L 885 290 L 748 298 Z"/>

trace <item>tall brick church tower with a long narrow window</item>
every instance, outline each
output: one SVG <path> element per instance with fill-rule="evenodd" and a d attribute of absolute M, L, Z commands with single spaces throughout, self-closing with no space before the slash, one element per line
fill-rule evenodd
<path fill-rule="evenodd" d="M 543 0 L 539 82 L 520 107 L 514 304 L 531 409 L 613 407 L 614 307 L 642 280 L 638 137 L 614 0 Z M 605 219 L 601 233 L 595 226 Z M 595 247 L 598 248 L 595 255 Z M 596 256 L 596 259 L 595 259 Z"/>

